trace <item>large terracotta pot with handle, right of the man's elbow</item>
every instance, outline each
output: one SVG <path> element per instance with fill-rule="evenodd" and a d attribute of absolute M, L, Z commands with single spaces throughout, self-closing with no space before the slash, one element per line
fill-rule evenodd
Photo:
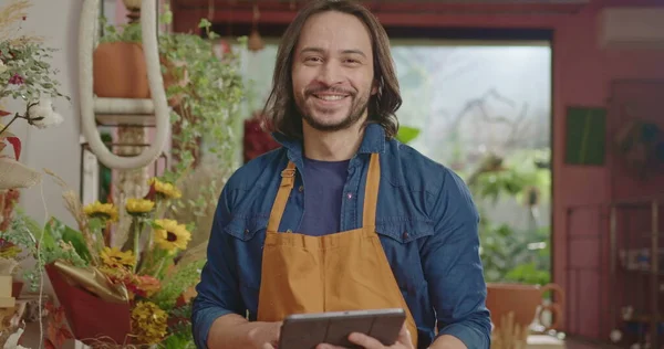
<path fill-rule="evenodd" d="M 548 290 L 552 290 L 556 294 L 556 303 L 544 305 L 542 296 Z M 548 284 L 546 286 L 487 284 L 487 308 L 491 311 L 491 322 L 496 327 L 500 327 L 500 319 L 504 316 L 513 311 L 515 325 L 528 328 L 537 315 L 537 308 L 540 306 L 542 310 L 550 310 L 553 315 L 552 324 L 547 327 L 547 330 L 559 329 L 562 326 L 564 292 L 556 284 Z"/>

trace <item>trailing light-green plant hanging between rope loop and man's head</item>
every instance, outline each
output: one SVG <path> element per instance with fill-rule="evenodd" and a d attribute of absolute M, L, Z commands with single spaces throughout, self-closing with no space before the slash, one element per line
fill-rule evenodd
<path fill-rule="evenodd" d="M 209 40 L 180 33 L 159 36 L 159 50 L 166 61 L 177 65 L 168 68 L 175 78 L 183 78 L 186 72 L 189 80 L 187 85 L 175 84 L 167 91 L 168 96 L 183 96 L 183 101 L 179 113 L 172 116 L 173 123 L 181 123 L 180 133 L 174 136 L 180 145 L 174 149 L 179 161 L 165 180 L 176 181 L 189 169 L 200 138 L 208 154 L 221 165 L 232 166 L 237 162 L 237 128 L 243 97 L 238 57 L 227 55 L 221 61 L 214 55 Z"/>

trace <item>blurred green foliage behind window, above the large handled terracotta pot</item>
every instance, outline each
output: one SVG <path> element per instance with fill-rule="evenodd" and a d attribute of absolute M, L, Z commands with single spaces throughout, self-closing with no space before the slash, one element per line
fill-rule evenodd
<path fill-rule="evenodd" d="M 551 172 L 549 152 L 525 150 L 510 155 L 501 169 L 478 174 L 470 190 L 476 199 L 515 198 L 537 205 L 549 198 Z M 537 194 L 533 194 L 537 192 Z M 480 212 L 483 208 L 479 208 Z M 483 215 L 479 234 L 481 261 L 487 282 L 547 284 L 550 282 L 550 229 L 518 231 L 507 224 L 495 224 Z"/>

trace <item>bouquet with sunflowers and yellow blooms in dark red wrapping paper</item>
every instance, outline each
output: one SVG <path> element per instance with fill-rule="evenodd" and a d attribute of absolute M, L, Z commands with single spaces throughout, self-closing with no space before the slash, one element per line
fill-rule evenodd
<path fill-rule="evenodd" d="M 61 184 L 63 184 L 61 182 Z M 42 262 L 74 337 L 103 346 L 185 348 L 191 342 L 188 300 L 204 261 L 187 248 L 193 226 L 164 218 L 180 191 L 158 178 L 144 198 L 122 208 L 131 226 L 117 224 L 121 208 L 82 207 L 65 191 L 79 230 L 51 220 L 43 231 Z"/>

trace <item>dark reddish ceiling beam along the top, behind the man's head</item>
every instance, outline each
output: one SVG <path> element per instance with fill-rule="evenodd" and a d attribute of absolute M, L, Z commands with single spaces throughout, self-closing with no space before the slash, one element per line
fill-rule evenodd
<path fill-rule="evenodd" d="M 214 23 L 251 23 L 253 3 L 242 0 L 173 0 L 176 31 L 196 30 L 200 18 Z M 484 3 L 479 3 L 484 1 Z M 434 1 L 378 1 L 365 6 L 385 27 L 494 27 L 550 28 L 559 15 L 577 13 L 588 0 L 458 0 Z M 208 6 L 212 3 L 214 6 Z M 259 0 L 260 23 L 288 24 L 294 19 L 302 1 Z"/>

